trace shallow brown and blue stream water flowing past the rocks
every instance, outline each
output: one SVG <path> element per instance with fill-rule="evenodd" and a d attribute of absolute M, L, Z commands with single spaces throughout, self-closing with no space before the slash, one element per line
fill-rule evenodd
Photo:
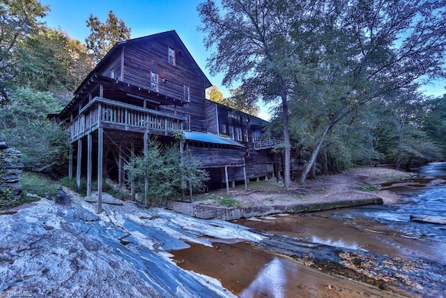
<path fill-rule="evenodd" d="M 384 262 L 385 258 L 424 260 L 443 268 L 446 225 L 417 223 L 410 221 L 410 215 L 446 216 L 444 180 L 446 163 L 431 163 L 420 168 L 411 181 L 383 186 L 402 196 L 396 204 L 282 214 L 236 223 L 277 237 L 300 239 L 309 246 L 323 244 L 337 250 L 380 255 Z M 219 243 L 212 248 L 192 245 L 174 255 L 181 267 L 218 278 L 240 297 L 394 297 L 392 292 L 380 292 L 380 286 L 374 288 L 335 278 L 323 274 L 323 268 L 314 270 L 245 243 Z M 446 283 L 442 270 L 433 279 L 436 283 Z M 426 274 L 417 278 L 422 281 L 425 277 Z M 426 297 L 444 297 L 441 294 L 444 287 L 439 292 L 429 292 L 426 285 L 420 288 L 424 288 L 420 292 Z M 420 292 L 413 294 L 414 297 Z M 402 293 L 411 296 L 410 292 Z"/>

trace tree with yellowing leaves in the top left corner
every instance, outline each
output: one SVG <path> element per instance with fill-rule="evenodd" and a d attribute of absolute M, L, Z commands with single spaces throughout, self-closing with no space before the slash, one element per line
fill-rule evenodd
<path fill-rule="evenodd" d="M 8 98 L 8 89 L 15 80 L 17 44 L 40 27 L 38 17 L 45 17 L 49 6 L 38 0 L 0 0 L 0 92 Z"/>

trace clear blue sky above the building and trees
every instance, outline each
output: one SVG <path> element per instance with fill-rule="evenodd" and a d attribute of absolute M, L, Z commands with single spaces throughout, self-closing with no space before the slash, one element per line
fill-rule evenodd
<path fill-rule="evenodd" d="M 109 10 L 132 29 L 132 38 L 147 36 L 153 33 L 176 30 L 187 49 L 200 68 L 217 85 L 224 96 L 229 90 L 222 86 L 223 75 L 211 76 L 206 68 L 206 59 L 210 52 L 203 45 L 204 34 L 197 30 L 200 19 L 197 6 L 205 0 L 40 0 L 49 5 L 51 11 L 45 21 L 49 27 L 66 31 L 71 38 L 85 42 L 90 30 L 86 20 L 90 14 L 105 22 Z M 445 94 L 446 80 L 438 80 L 422 87 L 429 95 Z M 237 87 L 237 86 L 233 86 Z M 261 103 L 259 103 L 261 105 Z M 259 117 L 268 119 L 268 108 L 261 105 Z"/>

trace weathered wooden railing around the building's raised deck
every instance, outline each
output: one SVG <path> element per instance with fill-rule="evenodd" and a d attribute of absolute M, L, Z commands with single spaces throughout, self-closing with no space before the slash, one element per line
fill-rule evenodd
<path fill-rule="evenodd" d="M 99 125 L 121 131 L 168 135 L 169 131 L 182 129 L 184 121 L 183 117 L 95 97 L 70 122 L 68 131 L 70 142 L 95 131 Z"/>

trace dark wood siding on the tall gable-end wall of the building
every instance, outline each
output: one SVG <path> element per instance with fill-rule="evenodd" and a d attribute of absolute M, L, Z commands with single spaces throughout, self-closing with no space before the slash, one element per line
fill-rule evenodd
<path fill-rule="evenodd" d="M 175 50 L 176 65 L 169 64 L 168 48 Z M 190 57 L 174 36 L 150 38 L 125 45 L 124 82 L 150 89 L 151 72 L 158 75 L 158 91 L 174 98 L 183 98 L 184 86 L 190 87 L 190 103 L 177 107 L 178 115 L 190 115 L 192 131 L 206 131 L 205 82 L 194 68 Z M 174 112 L 172 106 L 162 106 Z"/>

